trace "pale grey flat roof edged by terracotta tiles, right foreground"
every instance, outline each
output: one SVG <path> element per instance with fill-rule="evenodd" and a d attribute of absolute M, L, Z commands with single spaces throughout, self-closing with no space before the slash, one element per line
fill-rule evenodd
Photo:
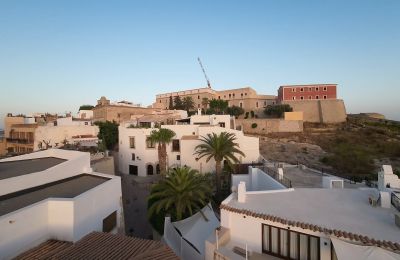
<path fill-rule="evenodd" d="M 247 194 L 246 202 L 232 199 L 228 207 L 308 223 L 378 240 L 400 243 L 392 209 L 372 207 L 374 189 L 304 188 L 285 192 Z"/>

